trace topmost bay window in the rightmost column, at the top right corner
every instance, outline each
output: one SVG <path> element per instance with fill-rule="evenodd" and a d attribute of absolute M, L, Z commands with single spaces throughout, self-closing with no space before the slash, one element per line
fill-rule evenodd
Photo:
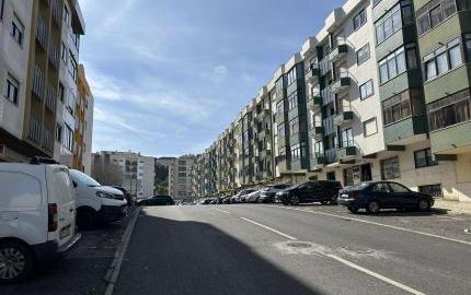
<path fill-rule="evenodd" d="M 463 0 L 436 0 L 428 1 L 417 10 L 418 35 L 424 35 L 432 28 L 441 24 L 457 11 L 466 9 Z"/>

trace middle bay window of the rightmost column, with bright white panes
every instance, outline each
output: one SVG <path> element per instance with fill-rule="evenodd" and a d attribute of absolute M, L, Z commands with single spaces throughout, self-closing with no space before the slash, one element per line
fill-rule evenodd
<path fill-rule="evenodd" d="M 424 57 L 425 79 L 432 80 L 463 63 L 460 38 L 455 38 Z"/>

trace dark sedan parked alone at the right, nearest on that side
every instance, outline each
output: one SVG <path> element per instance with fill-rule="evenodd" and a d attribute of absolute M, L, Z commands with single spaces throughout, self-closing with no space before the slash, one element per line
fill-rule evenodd
<path fill-rule="evenodd" d="M 381 209 L 412 209 L 425 212 L 434 205 L 434 198 L 412 191 L 398 182 L 374 181 L 344 188 L 338 192 L 337 202 L 352 213 L 359 209 L 366 209 L 368 213 L 378 213 Z"/>

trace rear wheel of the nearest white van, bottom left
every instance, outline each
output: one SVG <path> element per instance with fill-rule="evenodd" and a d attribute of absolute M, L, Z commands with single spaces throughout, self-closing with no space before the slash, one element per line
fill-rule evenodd
<path fill-rule="evenodd" d="M 15 283 L 31 274 L 33 253 L 18 241 L 0 244 L 0 283 Z"/>

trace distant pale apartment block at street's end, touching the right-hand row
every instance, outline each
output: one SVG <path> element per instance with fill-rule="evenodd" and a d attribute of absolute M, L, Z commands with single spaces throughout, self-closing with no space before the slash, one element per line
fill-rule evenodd
<path fill-rule="evenodd" d="M 192 169 L 196 157 L 184 155 L 169 165 L 169 194 L 175 200 L 193 198 Z"/>

